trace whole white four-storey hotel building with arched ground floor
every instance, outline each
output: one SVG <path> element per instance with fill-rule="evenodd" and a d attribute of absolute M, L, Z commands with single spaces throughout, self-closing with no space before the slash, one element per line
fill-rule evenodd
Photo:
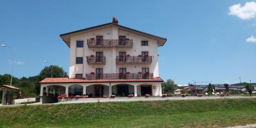
<path fill-rule="evenodd" d="M 112 23 L 60 35 L 70 48 L 69 78 L 40 81 L 40 96 L 162 96 L 158 47 L 166 38 Z"/>

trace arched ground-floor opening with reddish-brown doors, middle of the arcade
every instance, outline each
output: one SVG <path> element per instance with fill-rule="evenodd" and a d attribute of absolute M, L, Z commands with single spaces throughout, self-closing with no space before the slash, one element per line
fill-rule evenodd
<path fill-rule="evenodd" d="M 109 96 L 109 86 L 105 86 L 103 84 L 94 84 L 91 86 L 86 87 L 86 95 L 89 97 L 103 97 Z"/>

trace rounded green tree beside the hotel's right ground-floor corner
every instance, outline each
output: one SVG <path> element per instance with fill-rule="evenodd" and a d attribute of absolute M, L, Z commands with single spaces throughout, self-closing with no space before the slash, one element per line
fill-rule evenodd
<path fill-rule="evenodd" d="M 167 79 L 166 82 L 162 82 L 163 93 L 173 93 L 174 90 L 178 89 L 178 85 L 174 83 L 174 80 Z"/>

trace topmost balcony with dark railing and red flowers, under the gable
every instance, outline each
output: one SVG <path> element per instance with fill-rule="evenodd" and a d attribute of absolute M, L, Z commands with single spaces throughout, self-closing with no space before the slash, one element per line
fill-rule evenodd
<path fill-rule="evenodd" d="M 108 47 L 127 47 L 133 48 L 133 40 L 119 40 L 119 39 L 87 39 L 88 48 L 108 48 Z"/>

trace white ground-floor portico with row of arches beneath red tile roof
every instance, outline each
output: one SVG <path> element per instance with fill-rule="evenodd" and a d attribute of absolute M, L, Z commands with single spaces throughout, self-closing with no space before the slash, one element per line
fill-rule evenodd
<path fill-rule="evenodd" d="M 40 96 L 57 97 L 88 95 L 99 98 L 103 96 L 162 96 L 161 82 L 93 82 L 93 83 L 41 83 Z"/>

